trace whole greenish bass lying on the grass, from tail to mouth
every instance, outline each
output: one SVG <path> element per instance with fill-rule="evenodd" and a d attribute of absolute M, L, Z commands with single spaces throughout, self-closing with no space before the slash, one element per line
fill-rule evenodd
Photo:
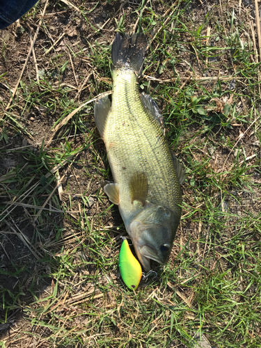
<path fill-rule="evenodd" d="M 164 120 L 150 95 L 139 93 L 147 48 L 144 33 L 116 33 L 111 50 L 113 93 L 95 103 L 114 182 L 104 186 L 118 205 L 139 262 L 165 264 L 182 212 L 184 171 L 164 134 Z"/>

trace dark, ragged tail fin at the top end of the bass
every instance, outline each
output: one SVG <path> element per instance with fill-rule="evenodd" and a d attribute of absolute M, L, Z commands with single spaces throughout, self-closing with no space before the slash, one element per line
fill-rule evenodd
<path fill-rule="evenodd" d="M 111 51 L 113 70 L 128 67 L 140 76 L 146 48 L 147 40 L 143 33 L 135 33 L 130 37 L 116 33 Z"/>

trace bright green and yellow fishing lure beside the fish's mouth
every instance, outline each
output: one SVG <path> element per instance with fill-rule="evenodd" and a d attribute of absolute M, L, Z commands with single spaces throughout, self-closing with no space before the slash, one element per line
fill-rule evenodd
<path fill-rule="evenodd" d="M 119 266 L 120 275 L 122 276 L 124 283 L 129 287 L 129 289 L 136 290 L 142 276 L 141 264 L 130 250 L 127 239 L 123 239 L 120 248 Z"/>

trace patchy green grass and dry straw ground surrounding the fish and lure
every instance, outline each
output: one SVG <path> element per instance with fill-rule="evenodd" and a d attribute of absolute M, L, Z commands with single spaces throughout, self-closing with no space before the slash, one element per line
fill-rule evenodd
<path fill-rule="evenodd" d="M 261 347 L 260 60 L 251 11 L 223 1 L 208 10 L 196 1 L 74 6 L 78 13 L 47 6 L 35 44 L 40 84 L 31 58 L 15 97 L 24 61 L 13 56 L 30 42 L 29 29 L 22 20 L 15 49 L 14 27 L 1 38 L 0 347 L 202 347 L 196 335 L 209 347 Z M 40 5 L 24 17 L 33 30 L 39 14 Z M 171 258 L 133 293 L 118 276 L 126 232 L 102 191 L 111 172 L 93 103 L 72 113 L 111 90 L 111 41 L 138 18 L 150 42 L 141 90 L 159 105 L 187 181 Z"/>

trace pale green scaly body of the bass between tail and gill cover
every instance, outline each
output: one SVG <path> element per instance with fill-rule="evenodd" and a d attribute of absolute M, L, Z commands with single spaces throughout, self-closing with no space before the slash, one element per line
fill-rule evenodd
<path fill-rule="evenodd" d="M 171 152 L 161 127 L 141 104 L 136 74 L 129 70 L 117 71 L 113 74 L 113 84 L 113 95 L 118 97 L 113 98 L 104 142 L 114 143 L 107 151 L 122 200 L 128 196 L 127 182 L 133 171 L 145 171 L 152 174 L 148 175 L 148 200 L 177 209 L 175 203 L 181 204 L 181 192 Z M 175 203 L 173 196 L 178 198 Z"/>

